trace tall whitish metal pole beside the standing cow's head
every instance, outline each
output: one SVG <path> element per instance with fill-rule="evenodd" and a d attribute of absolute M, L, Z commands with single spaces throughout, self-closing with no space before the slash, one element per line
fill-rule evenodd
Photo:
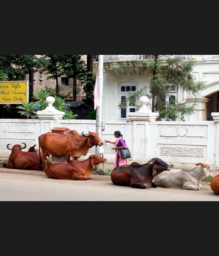
<path fill-rule="evenodd" d="M 98 89 L 100 106 L 97 107 L 96 114 L 96 132 L 102 140 L 102 99 L 103 99 L 103 55 L 98 55 Z M 95 154 L 99 155 L 99 146 L 95 148 Z M 96 171 L 99 171 L 100 165 L 97 166 Z"/>

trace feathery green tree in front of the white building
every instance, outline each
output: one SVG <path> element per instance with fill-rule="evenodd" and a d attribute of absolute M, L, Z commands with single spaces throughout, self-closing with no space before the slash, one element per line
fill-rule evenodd
<path fill-rule="evenodd" d="M 150 61 L 138 61 L 126 63 L 118 62 L 117 66 L 111 66 L 110 70 L 117 76 L 119 74 L 127 75 L 146 75 L 150 77 L 150 85 L 144 86 L 139 91 L 127 93 L 126 99 L 132 106 L 139 107 L 136 102 L 141 96 L 147 96 L 152 100 L 152 112 L 159 112 L 160 118 L 176 121 L 177 118 L 184 120 L 185 115 L 191 115 L 194 110 L 193 106 L 181 106 L 178 102 L 165 102 L 165 98 L 170 95 L 170 89 L 165 85 L 174 85 L 177 90 L 187 91 L 189 93 L 198 93 L 204 89 L 204 81 L 196 81 L 192 75 L 195 65 L 194 59 L 183 60 L 180 58 L 160 59 L 155 55 L 155 59 Z M 126 106 L 119 105 L 120 108 Z"/>

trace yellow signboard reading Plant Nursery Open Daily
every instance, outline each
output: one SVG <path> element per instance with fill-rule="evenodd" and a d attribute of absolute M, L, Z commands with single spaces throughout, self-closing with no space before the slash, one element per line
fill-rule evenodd
<path fill-rule="evenodd" d="M 20 104 L 29 100 L 29 81 L 0 81 L 0 104 Z"/>

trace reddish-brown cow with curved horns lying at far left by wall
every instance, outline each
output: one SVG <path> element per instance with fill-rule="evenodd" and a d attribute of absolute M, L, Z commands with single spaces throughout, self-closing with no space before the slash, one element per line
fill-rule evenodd
<path fill-rule="evenodd" d="M 22 151 L 22 149 L 26 148 L 26 143 L 21 144 L 24 144 L 24 146 L 15 144 L 12 148 L 9 148 L 11 144 L 7 144 L 7 149 L 11 150 L 11 154 L 6 168 L 43 171 L 43 166 L 39 161 L 39 153 Z M 49 160 L 47 160 L 47 164 L 49 164 Z"/>

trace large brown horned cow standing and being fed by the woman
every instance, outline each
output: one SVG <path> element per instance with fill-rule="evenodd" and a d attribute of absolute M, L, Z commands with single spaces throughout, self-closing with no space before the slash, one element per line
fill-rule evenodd
<path fill-rule="evenodd" d="M 39 148 L 42 150 L 44 171 L 48 167 L 46 159 L 49 154 L 56 157 L 66 156 L 66 162 L 69 163 L 71 157 L 77 160 L 81 156 L 86 156 L 92 146 L 103 145 L 96 132 L 89 132 L 87 135 L 82 132 L 82 135 L 79 135 L 75 130 L 71 130 L 68 135 L 47 132 L 40 135 L 38 139 Z"/>

